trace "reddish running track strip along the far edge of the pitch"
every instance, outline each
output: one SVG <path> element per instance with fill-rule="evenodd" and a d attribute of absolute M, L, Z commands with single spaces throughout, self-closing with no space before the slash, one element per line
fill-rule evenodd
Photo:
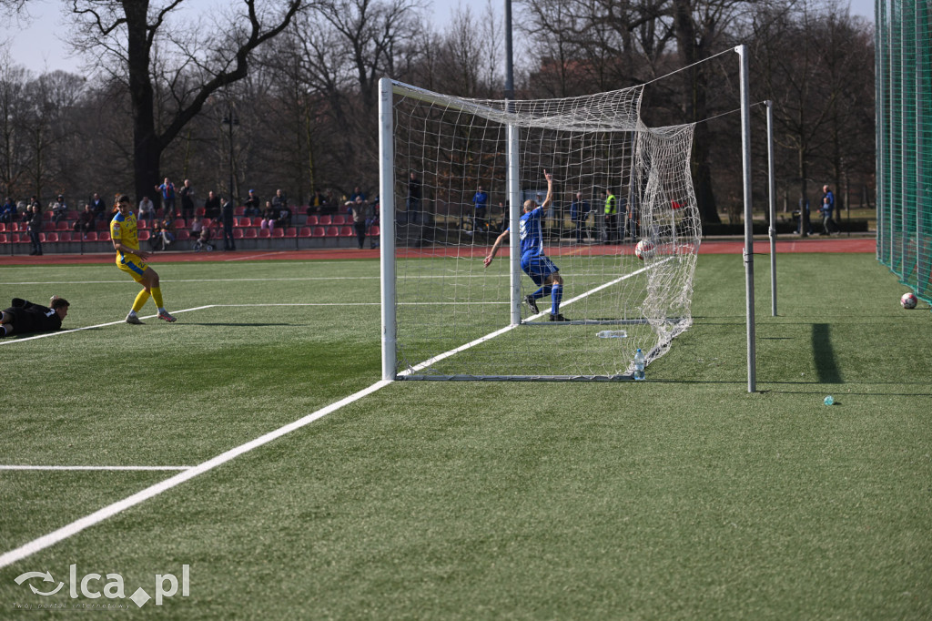
<path fill-rule="evenodd" d="M 744 249 L 743 241 L 704 241 L 699 246 L 700 255 L 740 255 Z M 459 255 L 474 256 L 481 258 L 488 253 L 490 246 L 463 246 L 455 248 L 450 246 L 441 246 L 437 248 L 410 248 L 405 251 L 408 256 L 454 256 Z M 548 247 L 546 252 L 551 256 L 575 255 L 581 250 L 585 250 L 590 255 L 617 255 L 619 253 L 630 255 L 634 252 L 634 246 L 631 244 L 619 245 L 594 245 L 588 246 L 565 246 L 563 248 Z M 785 255 L 788 253 L 870 253 L 876 252 L 876 242 L 873 238 L 829 238 L 829 239 L 809 239 L 793 240 L 788 242 L 776 242 L 777 254 Z M 241 250 L 237 252 L 212 252 L 212 253 L 154 253 L 150 255 L 149 262 L 158 263 L 184 263 L 188 261 L 261 261 L 261 260 L 279 260 L 279 261 L 311 261 L 311 260 L 328 260 L 335 259 L 353 259 L 353 258 L 377 258 L 379 251 L 376 250 L 357 250 L 357 249 L 322 249 L 322 250 Z M 507 255 L 507 248 L 503 249 L 501 255 Z M 761 240 L 754 242 L 755 255 L 769 255 L 770 242 Z M 102 253 L 94 255 L 0 255 L 0 266 L 13 265 L 81 265 L 81 264 L 105 264 L 113 263 L 113 253 Z"/>

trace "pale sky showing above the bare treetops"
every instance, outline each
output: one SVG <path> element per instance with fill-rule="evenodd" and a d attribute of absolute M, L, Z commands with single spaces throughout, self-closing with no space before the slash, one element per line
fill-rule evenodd
<path fill-rule="evenodd" d="M 192 8 L 208 10 L 221 0 L 189 0 Z M 474 16 L 484 13 L 487 0 L 428 0 L 433 7 L 434 23 L 443 28 L 446 20 L 457 7 L 469 7 Z M 493 0 L 504 6 L 504 0 Z M 61 0 L 30 0 L 29 11 L 34 17 L 31 23 L 18 22 L 4 18 L 0 20 L 0 44 L 8 45 L 13 62 L 24 65 L 36 74 L 61 69 L 73 73 L 82 73 L 80 61 L 69 58 L 69 50 L 64 42 L 68 36 L 68 27 L 62 17 Z M 850 0 L 851 12 L 873 20 L 874 0 Z"/>

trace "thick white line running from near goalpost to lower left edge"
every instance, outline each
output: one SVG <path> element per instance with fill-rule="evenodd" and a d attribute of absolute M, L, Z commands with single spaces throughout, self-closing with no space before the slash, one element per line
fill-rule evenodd
<path fill-rule="evenodd" d="M 143 503 L 144 501 L 149 500 L 154 496 L 158 496 L 158 494 L 162 493 L 163 491 L 171 490 L 172 488 L 181 485 L 188 479 L 202 475 L 205 472 L 209 472 L 219 465 L 223 465 L 226 462 L 230 462 L 237 457 L 240 457 L 240 455 L 248 453 L 253 449 L 258 449 L 259 447 L 268 444 L 272 440 L 277 440 L 282 435 L 290 434 L 297 429 L 301 429 L 302 427 L 307 426 L 313 421 L 322 419 L 327 414 L 336 412 L 337 409 L 348 406 L 354 401 L 358 401 L 364 396 L 375 393 L 391 383 L 392 382 L 388 380 L 379 380 L 368 388 L 359 391 L 358 393 L 350 394 L 345 399 L 341 399 L 334 404 L 331 404 L 327 407 L 322 407 L 316 412 L 308 414 L 308 416 L 304 417 L 303 419 L 288 423 L 287 425 L 280 427 L 275 431 L 269 432 L 266 435 L 260 435 L 259 437 L 250 442 L 247 442 L 246 444 L 242 444 L 235 449 L 229 449 L 226 452 L 223 452 L 216 457 L 207 460 L 206 462 L 201 462 L 196 466 L 190 467 L 182 473 L 171 476 L 164 481 L 149 486 L 142 491 L 137 491 L 136 493 L 128 496 L 127 498 L 124 498 L 121 501 L 117 501 L 114 504 L 108 504 L 107 506 L 103 507 L 103 509 L 99 509 L 98 511 L 95 511 L 88 516 L 76 519 L 72 523 L 66 526 L 62 526 L 62 528 L 58 529 L 57 531 L 51 531 L 48 534 L 39 537 L 38 539 L 34 539 L 28 544 L 21 545 L 16 549 L 5 552 L 4 554 L 0 555 L 0 568 L 7 567 L 7 565 L 11 565 L 19 560 L 30 557 L 36 552 L 46 549 L 50 545 L 58 544 L 71 537 L 72 535 L 90 528 L 91 526 L 99 524 L 105 519 L 114 517 L 118 513 L 121 513 L 122 511 L 125 511 L 132 506 Z"/>

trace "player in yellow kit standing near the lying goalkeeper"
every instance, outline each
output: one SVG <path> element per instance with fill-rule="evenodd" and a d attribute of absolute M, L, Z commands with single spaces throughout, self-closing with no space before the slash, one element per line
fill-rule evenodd
<path fill-rule="evenodd" d="M 130 314 L 126 316 L 126 323 L 143 323 L 137 313 L 143 309 L 149 296 L 152 296 L 158 307 L 158 318 L 171 324 L 176 320 L 169 314 L 169 311 L 165 310 L 162 303 L 162 290 L 158 287 L 158 274 L 155 269 L 145 265 L 145 259 L 149 254 L 139 249 L 136 215 L 132 213 L 131 205 L 130 197 L 126 194 L 121 195 L 117 199 L 117 214 L 110 221 L 110 239 L 114 242 L 114 248 L 117 250 L 117 268 L 129 273 L 133 280 L 143 285 L 143 290 L 139 292 L 136 301 L 132 303 Z"/>

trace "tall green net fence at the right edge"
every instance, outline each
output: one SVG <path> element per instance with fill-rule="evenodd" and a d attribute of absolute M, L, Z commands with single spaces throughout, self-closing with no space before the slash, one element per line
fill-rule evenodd
<path fill-rule="evenodd" d="M 932 302 L 929 0 L 877 0 L 877 258 Z"/>

